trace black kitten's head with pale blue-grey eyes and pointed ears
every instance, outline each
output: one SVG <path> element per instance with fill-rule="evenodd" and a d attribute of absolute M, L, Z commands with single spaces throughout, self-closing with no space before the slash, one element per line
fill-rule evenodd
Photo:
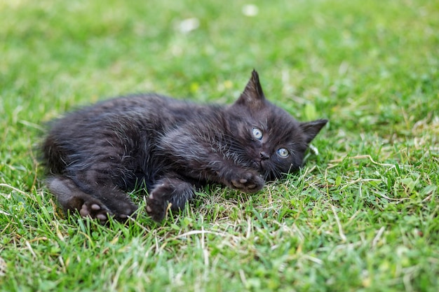
<path fill-rule="evenodd" d="M 309 143 L 327 120 L 299 123 L 266 100 L 255 70 L 241 97 L 230 106 L 231 132 L 240 144 L 241 162 L 265 179 L 276 179 L 302 166 Z"/>

